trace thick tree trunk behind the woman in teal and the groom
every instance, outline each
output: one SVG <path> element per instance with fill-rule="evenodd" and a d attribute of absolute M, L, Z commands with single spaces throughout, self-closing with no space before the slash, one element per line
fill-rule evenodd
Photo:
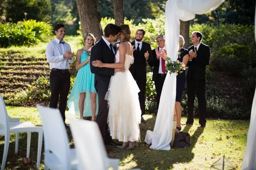
<path fill-rule="evenodd" d="M 96 40 L 103 35 L 98 0 L 76 0 L 83 35 L 92 33 Z"/>

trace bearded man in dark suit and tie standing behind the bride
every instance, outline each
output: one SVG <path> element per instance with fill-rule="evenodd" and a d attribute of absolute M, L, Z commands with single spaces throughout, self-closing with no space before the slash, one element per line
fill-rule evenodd
<path fill-rule="evenodd" d="M 135 34 L 135 40 L 131 42 L 131 45 L 134 45 L 135 51 L 133 52 L 134 63 L 130 67 L 130 72 L 140 88 L 138 95 L 141 109 L 141 122 L 143 123 L 145 123 L 142 116 L 145 114 L 146 60 L 150 62 L 153 59 L 150 44 L 143 42 L 144 35 L 145 31 L 138 29 Z"/>

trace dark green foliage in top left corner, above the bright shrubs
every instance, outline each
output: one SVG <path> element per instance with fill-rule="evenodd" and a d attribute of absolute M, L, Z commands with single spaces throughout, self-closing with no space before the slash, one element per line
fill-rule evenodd
<path fill-rule="evenodd" d="M 0 15 L 5 14 L 8 19 L 6 22 L 17 23 L 25 18 L 47 22 L 49 21 L 49 11 L 51 11 L 50 0 L 3 0 L 0 3 Z"/>

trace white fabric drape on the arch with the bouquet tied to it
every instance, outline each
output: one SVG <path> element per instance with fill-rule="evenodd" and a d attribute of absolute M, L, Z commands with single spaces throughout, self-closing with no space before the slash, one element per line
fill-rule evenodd
<path fill-rule="evenodd" d="M 195 14 L 215 10 L 224 0 L 168 0 L 165 14 L 165 36 L 168 57 L 177 60 L 180 20 L 192 20 Z M 176 74 L 166 76 L 160 98 L 154 131 L 147 131 L 145 142 L 151 149 L 170 150 L 176 96 Z"/>

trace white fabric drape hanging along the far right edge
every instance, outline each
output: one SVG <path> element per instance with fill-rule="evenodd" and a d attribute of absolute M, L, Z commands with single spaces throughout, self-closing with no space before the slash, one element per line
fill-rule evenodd
<path fill-rule="evenodd" d="M 256 40 L 256 10 L 255 10 L 255 40 Z M 244 153 L 242 170 L 256 169 L 256 90 L 253 97 L 252 112 L 250 117 L 250 126 L 247 135 L 247 144 Z"/>

